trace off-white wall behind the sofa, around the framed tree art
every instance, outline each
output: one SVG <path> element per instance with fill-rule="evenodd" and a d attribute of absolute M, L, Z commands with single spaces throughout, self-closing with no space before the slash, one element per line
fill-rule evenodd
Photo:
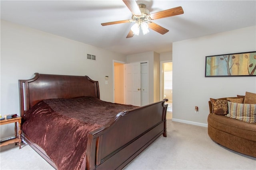
<path fill-rule="evenodd" d="M 204 77 L 205 56 L 256 51 L 256 26 L 175 42 L 172 51 L 174 121 L 206 125 L 209 98 L 256 92 L 255 76 Z"/>

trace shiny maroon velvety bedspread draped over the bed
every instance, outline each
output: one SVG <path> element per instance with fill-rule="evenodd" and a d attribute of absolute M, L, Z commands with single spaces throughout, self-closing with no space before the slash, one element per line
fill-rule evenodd
<path fill-rule="evenodd" d="M 22 130 L 44 149 L 59 170 L 79 170 L 86 161 L 88 133 L 108 123 L 120 111 L 136 107 L 89 96 L 48 99 L 24 115 Z"/>

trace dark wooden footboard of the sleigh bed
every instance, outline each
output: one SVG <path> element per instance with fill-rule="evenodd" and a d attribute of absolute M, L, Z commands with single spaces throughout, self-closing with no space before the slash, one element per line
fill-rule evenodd
<path fill-rule="evenodd" d="M 155 139 L 166 137 L 166 100 L 118 113 L 88 135 L 86 169 L 122 169 Z"/>

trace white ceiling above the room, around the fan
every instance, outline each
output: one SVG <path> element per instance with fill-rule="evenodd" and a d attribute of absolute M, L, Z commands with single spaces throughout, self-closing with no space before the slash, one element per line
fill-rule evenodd
<path fill-rule="evenodd" d="M 122 0 L 1 0 L 1 19 L 125 55 L 172 51 L 172 42 L 256 25 L 256 1 L 138 0 L 150 13 L 182 6 L 184 14 L 154 20 L 170 30 L 126 38 L 133 23 Z M 239 40 L 238 40 L 239 41 Z"/>

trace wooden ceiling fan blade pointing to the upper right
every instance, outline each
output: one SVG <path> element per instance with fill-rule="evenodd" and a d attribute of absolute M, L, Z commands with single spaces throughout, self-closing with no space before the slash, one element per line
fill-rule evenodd
<path fill-rule="evenodd" d="M 150 14 L 150 18 L 152 20 L 156 20 L 156 19 L 176 16 L 176 15 L 180 15 L 180 14 L 184 14 L 184 11 L 181 6 L 178 6 L 176 8 L 171 8 L 169 10 L 164 10 L 164 11 Z"/>

